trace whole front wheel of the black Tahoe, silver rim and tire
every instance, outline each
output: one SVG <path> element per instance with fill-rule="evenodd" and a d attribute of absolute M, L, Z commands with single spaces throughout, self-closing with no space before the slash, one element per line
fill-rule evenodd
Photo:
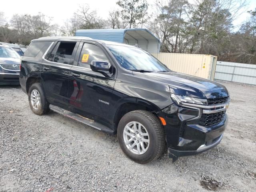
<path fill-rule="evenodd" d="M 151 112 L 136 110 L 125 114 L 118 124 L 117 134 L 121 149 L 135 162 L 152 162 L 164 151 L 164 130 Z"/>

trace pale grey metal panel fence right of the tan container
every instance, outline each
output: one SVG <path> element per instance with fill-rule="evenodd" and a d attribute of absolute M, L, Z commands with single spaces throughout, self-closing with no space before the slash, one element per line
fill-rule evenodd
<path fill-rule="evenodd" d="M 256 65 L 218 61 L 214 79 L 256 85 Z"/>

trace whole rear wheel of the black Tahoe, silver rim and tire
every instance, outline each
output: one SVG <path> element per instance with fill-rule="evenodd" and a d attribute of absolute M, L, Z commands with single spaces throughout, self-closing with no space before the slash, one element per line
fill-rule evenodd
<path fill-rule="evenodd" d="M 34 83 L 28 91 L 28 101 L 30 109 L 34 114 L 42 115 L 49 111 L 49 104 L 45 98 L 42 84 Z"/>

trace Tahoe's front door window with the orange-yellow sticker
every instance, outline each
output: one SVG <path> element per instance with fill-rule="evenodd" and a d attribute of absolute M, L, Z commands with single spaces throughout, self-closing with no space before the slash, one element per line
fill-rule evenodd
<path fill-rule="evenodd" d="M 108 57 L 100 47 L 94 44 L 84 43 L 79 57 L 78 66 L 90 68 L 90 64 L 93 60 L 103 60 L 109 62 Z"/>

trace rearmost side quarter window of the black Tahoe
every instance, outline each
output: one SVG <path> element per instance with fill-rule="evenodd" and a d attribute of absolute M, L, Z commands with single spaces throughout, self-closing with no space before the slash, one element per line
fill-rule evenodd
<path fill-rule="evenodd" d="M 31 42 L 28 49 L 24 53 L 24 56 L 36 57 L 41 50 L 45 51 L 50 44 L 51 42 Z"/>

